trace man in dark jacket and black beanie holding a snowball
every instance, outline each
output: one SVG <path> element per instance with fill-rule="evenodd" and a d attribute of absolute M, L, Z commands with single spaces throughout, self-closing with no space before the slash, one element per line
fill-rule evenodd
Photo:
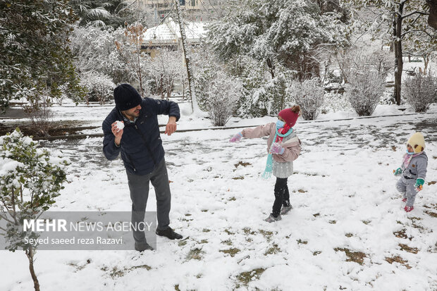
<path fill-rule="evenodd" d="M 116 108 L 109 113 L 102 125 L 103 152 L 109 160 L 114 160 L 121 154 L 132 199 L 132 223 L 138 225 L 144 221 L 149 182 L 152 182 L 158 216 L 156 235 L 171 240 L 180 239 L 182 235 L 175 233 L 169 226 L 171 192 L 157 117 L 159 114 L 168 115 L 165 133 L 171 135 L 176 131 L 176 121 L 180 118 L 179 106 L 172 101 L 142 99 L 137 90 L 128 84 L 118 85 L 113 96 Z M 118 120 L 124 123 L 123 129 L 117 128 Z M 134 230 L 133 237 L 137 251 L 152 249 L 146 242 L 144 231 Z"/>

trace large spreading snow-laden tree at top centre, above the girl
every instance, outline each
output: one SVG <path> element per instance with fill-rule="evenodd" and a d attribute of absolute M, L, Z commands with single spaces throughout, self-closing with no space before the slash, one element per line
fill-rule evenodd
<path fill-rule="evenodd" d="M 347 44 L 339 9 L 324 13 L 311 0 L 233 0 L 228 15 L 210 25 L 209 43 L 223 61 L 247 54 L 265 62 L 271 78 L 278 64 L 297 71 L 300 79 L 318 76 L 314 50 Z"/>

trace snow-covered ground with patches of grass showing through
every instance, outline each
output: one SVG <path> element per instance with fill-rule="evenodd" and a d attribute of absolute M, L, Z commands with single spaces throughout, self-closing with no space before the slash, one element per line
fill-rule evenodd
<path fill-rule="evenodd" d="M 66 118 L 101 124 L 111 108 L 59 110 Z M 294 209 L 271 224 L 262 219 L 271 211 L 274 179 L 259 178 L 266 140 L 230 144 L 238 129 L 211 130 L 209 120 L 185 116 L 179 129 L 207 130 L 162 135 L 172 181 L 171 226 L 185 240 L 158 237 L 157 249 L 143 254 L 37 252 L 42 290 L 436 290 L 436 111 L 298 121 L 302 154 L 288 182 Z M 393 106 L 377 113 L 398 114 Z M 275 120 L 235 118 L 228 126 Z M 405 213 L 392 171 L 416 130 L 426 137 L 428 175 L 414 211 Z M 101 138 L 42 144 L 72 161 L 71 182 L 52 210 L 130 210 L 122 163 L 104 159 Z M 147 210 L 155 209 L 151 190 Z M 25 254 L 0 255 L 0 290 L 32 290 Z"/>

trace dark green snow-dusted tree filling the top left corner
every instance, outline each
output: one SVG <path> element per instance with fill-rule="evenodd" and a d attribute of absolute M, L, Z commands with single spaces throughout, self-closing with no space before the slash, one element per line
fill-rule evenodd
<path fill-rule="evenodd" d="M 76 16 L 68 0 L 0 0 L 0 108 L 11 99 L 82 94 L 68 49 Z"/>

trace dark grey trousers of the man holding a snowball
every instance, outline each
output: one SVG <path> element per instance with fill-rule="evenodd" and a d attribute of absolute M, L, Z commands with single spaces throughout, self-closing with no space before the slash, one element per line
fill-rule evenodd
<path fill-rule="evenodd" d="M 130 199 L 132 199 L 132 223 L 139 225 L 144 221 L 147 198 L 149 197 L 149 182 L 152 182 L 156 194 L 156 215 L 158 216 L 158 229 L 164 230 L 170 224 L 171 192 L 168 182 L 166 161 L 163 158 L 156 164 L 152 173 L 147 175 L 135 175 L 128 173 Z M 145 242 L 144 231 L 134 230 L 135 242 Z"/>

